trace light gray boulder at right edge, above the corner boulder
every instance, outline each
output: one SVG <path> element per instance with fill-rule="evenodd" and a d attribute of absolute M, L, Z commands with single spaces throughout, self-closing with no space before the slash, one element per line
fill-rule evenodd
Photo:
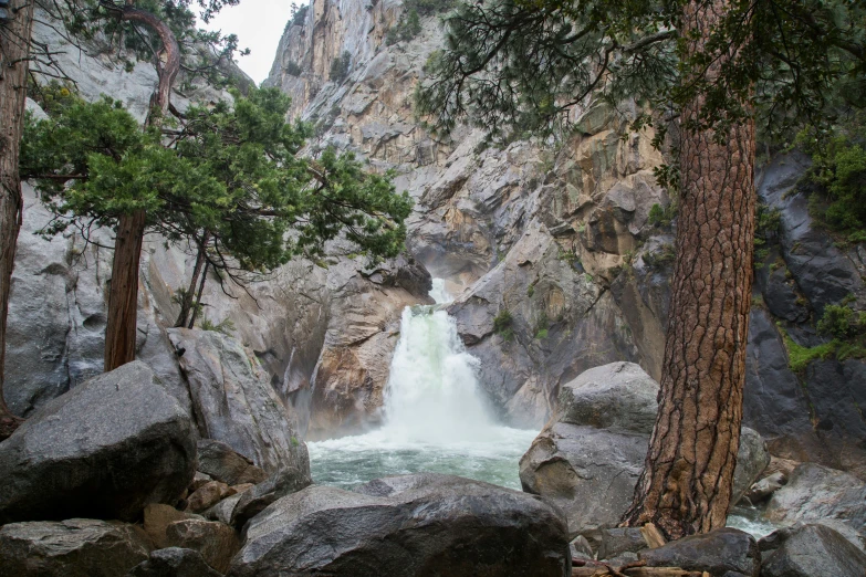
<path fill-rule="evenodd" d="M 836 531 L 863 548 L 866 537 L 866 483 L 856 476 L 814 463 L 797 465 L 776 491 L 764 513 L 780 524 L 837 523 Z"/>

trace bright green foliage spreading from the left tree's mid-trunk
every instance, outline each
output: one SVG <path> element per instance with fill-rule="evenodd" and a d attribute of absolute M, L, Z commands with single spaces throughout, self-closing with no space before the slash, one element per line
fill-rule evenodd
<path fill-rule="evenodd" d="M 291 101 L 280 91 L 233 96 L 233 106 L 189 107 L 168 145 L 107 97 L 70 97 L 50 119 L 28 118 L 21 174 L 54 213 L 44 232 L 87 233 L 144 209 L 148 230 L 169 241 L 198 244 L 207 231 L 209 261 L 240 282 L 316 258 L 338 234 L 372 260 L 400 252 L 411 201 L 388 176 L 333 149 L 298 156 L 310 127 L 285 122 Z"/>

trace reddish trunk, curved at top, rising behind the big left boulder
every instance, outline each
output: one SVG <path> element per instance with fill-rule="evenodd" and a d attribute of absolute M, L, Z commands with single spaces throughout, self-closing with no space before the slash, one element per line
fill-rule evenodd
<path fill-rule="evenodd" d="M 180 70 L 177 40 L 171 29 L 150 12 L 126 6 L 118 10 L 118 18 L 152 28 L 163 42 L 163 50 L 156 62 L 159 84 L 150 97 L 150 111 L 145 123 L 148 126 L 159 125 L 168 113 L 171 86 Z M 147 214 L 144 210 L 121 216 L 117 224 L 108 291 L 108 326 L 105 328 L 106 371 L 135 360 L 138 262 L 146 224 Z"/>

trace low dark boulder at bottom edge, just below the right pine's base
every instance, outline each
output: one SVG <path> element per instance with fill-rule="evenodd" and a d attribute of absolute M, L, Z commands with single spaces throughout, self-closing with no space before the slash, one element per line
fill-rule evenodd
<path fill-rule="evenodd" d="M 707 571 L 711 577 L 724 577 L 729 571 L 758 577 L 761 567 L 761 552 L 754 537 L 730 527 L 641 550 L 638 558 L 649 567 L 681 567 Z"/>

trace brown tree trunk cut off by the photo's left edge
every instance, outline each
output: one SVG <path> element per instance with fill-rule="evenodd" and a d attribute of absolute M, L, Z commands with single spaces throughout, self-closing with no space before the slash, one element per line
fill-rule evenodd
<path fill-rule="evenodd" d="M 13 19 L 0 25 L 0 441 L 12 434 L 21 422 L 3 399 L 3 364 L 12 267 L 24 208 L 18 158 L 24 128 L 30 31 L 33 25 L 33 2 L 18 0 L 12 4 L 10 12 Z"/>

